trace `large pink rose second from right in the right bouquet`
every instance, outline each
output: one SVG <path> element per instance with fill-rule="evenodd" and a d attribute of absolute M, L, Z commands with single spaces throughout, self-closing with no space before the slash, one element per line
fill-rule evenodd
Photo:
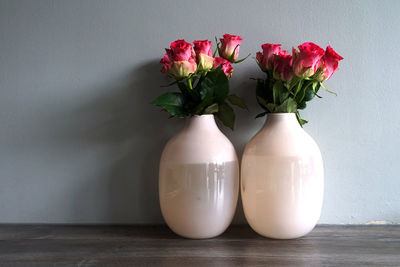
<path fill-rule="evenodd" d="M 293 71 L 301 78 L 308 78 L 317 71 L 320 60 L 325 51 L 314 43 L 304 43 L 298 46 L 299 51 L 293 48 Z"/>

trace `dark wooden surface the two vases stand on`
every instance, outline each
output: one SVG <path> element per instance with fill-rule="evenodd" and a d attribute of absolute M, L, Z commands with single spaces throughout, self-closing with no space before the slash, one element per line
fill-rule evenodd
<path fill-rule="evenodd" d="M 400 266 L 400 226 L 318 226 L 273 240 L 248 226 L 189 240 L 165 226 L 0 225 L 0 266 Z"/>

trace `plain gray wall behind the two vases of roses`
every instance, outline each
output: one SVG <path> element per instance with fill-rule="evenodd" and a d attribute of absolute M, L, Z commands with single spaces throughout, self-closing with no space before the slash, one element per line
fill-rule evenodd
<path fill-rule="evenodd" d="M 161 223 L 158 160 L 182 126 L 149 103 L 178 38 L 330 44 L 345 60 L 303 112 L 325 161 L 320 223 L 400 223 L 400 1 L 0 0 L 0 222 Z M 261 127 L 253 59 L 223 131 L 241 155 Z M 241 206 L 235 222 L 244 222 Z"/>

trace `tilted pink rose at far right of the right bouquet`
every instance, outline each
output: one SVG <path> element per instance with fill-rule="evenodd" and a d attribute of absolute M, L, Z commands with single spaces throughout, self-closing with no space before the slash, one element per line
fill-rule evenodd
<path fill-rule="evenodd" d="M 315 79 L 319 82 L 328 80 L 338 69 L 339 61 L 342 59 L 343 57 L 336 53 L 335 50 L 328 45 L 325 55 L 321 59 L 320 67 L 315 74 Z"/>

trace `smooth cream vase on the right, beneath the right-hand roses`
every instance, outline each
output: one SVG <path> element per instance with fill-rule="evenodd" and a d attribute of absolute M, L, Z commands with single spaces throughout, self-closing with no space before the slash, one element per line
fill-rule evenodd
<path fill-rule="evenodd" d="M 250 226 L 278 239 L 309 233 L 321 213 L 323 175 L 319 148 L 296 115 L 268 114 L 242 159 L 241 193 Z"/>

